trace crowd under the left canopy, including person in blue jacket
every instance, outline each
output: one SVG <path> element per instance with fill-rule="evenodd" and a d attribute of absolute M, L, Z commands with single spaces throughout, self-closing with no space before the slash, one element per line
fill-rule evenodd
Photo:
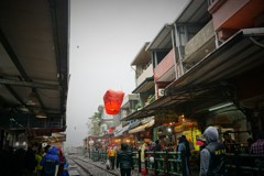
<path fill-rule="evenodd" d="M 68 176 L 68 163 L 62 148 L 46 143 L 0 151 L 0 175 L 3 176 Z"/>

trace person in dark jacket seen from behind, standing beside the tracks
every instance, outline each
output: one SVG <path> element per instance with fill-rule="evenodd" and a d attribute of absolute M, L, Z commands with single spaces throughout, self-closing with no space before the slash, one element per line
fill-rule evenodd
<path fill-rule="evenodd" d="M 122 143 L 118 152 L 117 168 L 120 167 L 121 176 L 131 176 L 131 169 L 134 169 L 132 152 L 128 150 L 128 144 Z"/>

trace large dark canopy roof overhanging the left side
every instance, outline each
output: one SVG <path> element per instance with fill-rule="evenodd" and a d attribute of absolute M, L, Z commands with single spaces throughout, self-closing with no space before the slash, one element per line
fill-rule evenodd
<path fill-rule="evenodd" d="M 68 0 L 1 0 L 0 128 L 65 130 L 68 41 Z"/>

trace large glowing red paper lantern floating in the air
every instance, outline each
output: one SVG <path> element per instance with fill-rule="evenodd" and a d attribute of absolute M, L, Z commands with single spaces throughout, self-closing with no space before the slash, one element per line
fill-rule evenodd
<path fill-rule="evenodd" d="M 103 96 L 106 112 L 108 114 L 118 114 L 123 102 L 123 91 L 107 90 Z"/>

